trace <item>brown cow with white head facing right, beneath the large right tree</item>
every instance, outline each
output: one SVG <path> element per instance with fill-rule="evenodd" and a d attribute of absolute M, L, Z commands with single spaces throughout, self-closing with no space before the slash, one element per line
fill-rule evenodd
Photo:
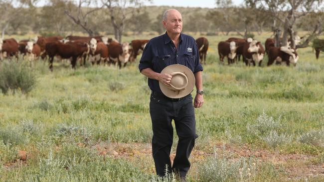
<path fill-rule="evenodd" d="M 269 49 L 268 56 L 269 56 L 268 66 L 272 65 L 275 61 L 276 64 L 281 64 L 282 62 L 286 62 L 287 66 L 289 66 L 290 64 L 296 66 L 296 63 L 299 58 L 296 50 L 291 49 L 291 51 L 287 52 L 287 47 L 280 47 L 280 48 L 271 47 Z"/>

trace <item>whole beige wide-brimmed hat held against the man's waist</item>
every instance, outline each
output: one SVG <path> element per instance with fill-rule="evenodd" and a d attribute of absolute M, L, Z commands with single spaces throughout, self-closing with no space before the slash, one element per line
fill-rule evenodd
<path fill-rule="evenodd" d="M 195 79 L 192 71 L 188 67 L 179 64 L 169 65 L 161 73 L 172 76 L 170 86 L 159 82 L 162 93 L 167 97 L 181 98 L 193 90 Z"/>

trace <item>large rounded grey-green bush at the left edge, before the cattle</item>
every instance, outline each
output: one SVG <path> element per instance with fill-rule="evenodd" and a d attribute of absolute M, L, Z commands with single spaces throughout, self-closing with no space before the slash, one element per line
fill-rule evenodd
<path fill-rule="evenodd" d="M 6 60 L 0 64 L 0 89 L 3 93 L 9 90 L 28 93 L 35 84 L 36 76 L 24 62 Z"/>

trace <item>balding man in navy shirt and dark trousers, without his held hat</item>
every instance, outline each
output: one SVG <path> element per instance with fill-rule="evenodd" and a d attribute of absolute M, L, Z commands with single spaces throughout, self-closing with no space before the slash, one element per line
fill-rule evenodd
<path fill-rule="evenodd" d="M 157 175 L 163 177 L 165 172 L 174 172 L 185 181 L 185 176 L 190 168 L 188 160 L 195 138 L 194 108 L 203 104 L 202 91 L 202 66 L 199 62 L 199 53 L 195 40 L 182 34 L 182 17 L 176 9 L 169 9 L 163 13 L 163 26 L 165 34 L 155 37 L 146 45 L 140 60 L 140 72 L 149 78 L 148 84 L 152 90 L 150 102 L 150 114 L 152 119 L 153 139 L 152 152 Z M 161 71 L 173 64 L 188 67 L 195 78 L 197 94 L 192 105 L 190 92 L 180 98 L 165 96 L 159 82 L 164 86 L 170 86 L 172 76 Z M 174 120 L 179 141 L 176 156 L 171 168 L 170 151 L 173 140 Z"/>

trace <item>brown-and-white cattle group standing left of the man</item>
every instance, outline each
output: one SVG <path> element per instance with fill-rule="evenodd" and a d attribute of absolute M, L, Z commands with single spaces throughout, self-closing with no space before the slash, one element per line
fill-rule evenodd
<path fill-rule="evenodd" d="M 41 37 L 35 40 L 16 41 L 13 38 L 0 39 L 0 60 L 3 58 L 18 57 L 21 54 L 29 61 L 49 59 L 49 68 L 53 71 L 53 60 L 69 59 L 72 68 L 75 69 L 77 61 L 83 66 L 86 61 L 92 64 L 115 64 L 126 66 L 128 62 L 134 62 L 140 51 L 144 50 L 149 40 L 133 40 L 131 43 L 119 43 L 114 38 L 105 36 L 61 36 Z"/>

